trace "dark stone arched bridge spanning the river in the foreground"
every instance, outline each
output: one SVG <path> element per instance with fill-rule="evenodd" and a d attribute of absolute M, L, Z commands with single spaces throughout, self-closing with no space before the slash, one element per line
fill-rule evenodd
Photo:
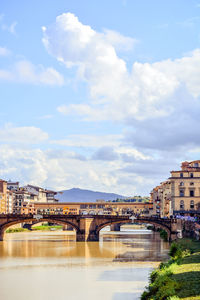
<path fill-rule="evenodd" d="M 33 222 L 51 222 L 70 225 L 76 230 L 76 241 L 99 241 L 99 232 L 105 226 L 127 223 L 152 224 L 168 233 L 169 241 L 175 240 L 182 232 L 182 221 L 177 219 L 161 219 L 155 217 L 131 217 L 129 215 L 34 215 L 34 214 L 1 214 L 0 241 L 3 241 L 5 230 L 15 224 Z"/>

